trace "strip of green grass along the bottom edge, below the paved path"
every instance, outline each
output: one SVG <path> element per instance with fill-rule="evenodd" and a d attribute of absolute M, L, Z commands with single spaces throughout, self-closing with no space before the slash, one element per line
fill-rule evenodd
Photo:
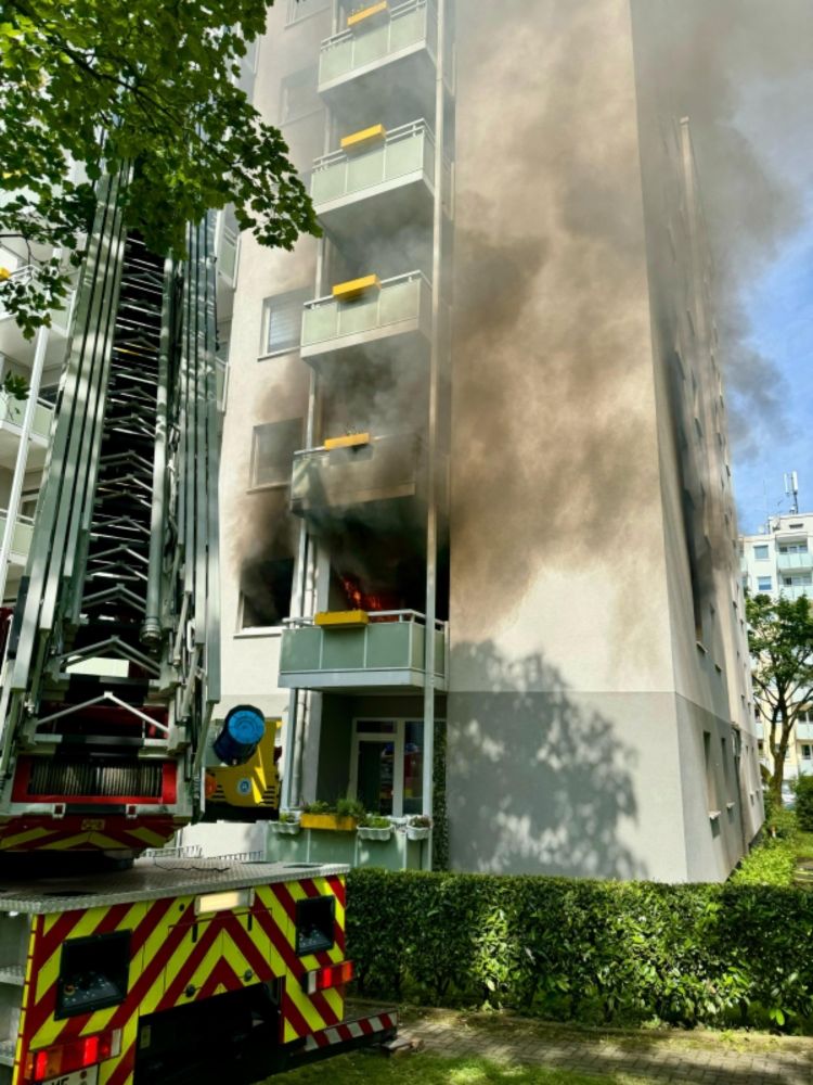
<path fill-rule="evenodd" d="M 405 1055 L 384 1058 L 358 1051 L 326 1062 L 317 1062 L 272 1077 L 269 1085 L 655 1085 L 655 1078 L 629 1074 L 601 1077 L 541 1067 L 513 1067 L 476 1057 L 440 1059 L 433 1055 Z"/>

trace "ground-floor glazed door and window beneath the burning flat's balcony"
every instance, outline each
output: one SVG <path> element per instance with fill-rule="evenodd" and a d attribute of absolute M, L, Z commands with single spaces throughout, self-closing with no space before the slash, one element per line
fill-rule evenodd
<path fill-rule="evenodd" d="M 350 789 L 366 810 L 421 814 L 424 794 L 422 719 L 357 719 Z"/>

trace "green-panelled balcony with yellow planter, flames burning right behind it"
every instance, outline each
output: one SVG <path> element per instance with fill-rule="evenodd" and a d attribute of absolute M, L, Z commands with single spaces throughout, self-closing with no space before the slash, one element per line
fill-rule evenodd
<path fill-rule="evenodd" d="M 287 618 L 280 686 L 313 690 L 420 690 L 425 685 L 426 624 L 415 611 L 376 611 L 359 624 Z M 330 615 L 336 616 L 339 615 Z M 435 685 L 447 688 L 446 624 L 435 624 Z"/>

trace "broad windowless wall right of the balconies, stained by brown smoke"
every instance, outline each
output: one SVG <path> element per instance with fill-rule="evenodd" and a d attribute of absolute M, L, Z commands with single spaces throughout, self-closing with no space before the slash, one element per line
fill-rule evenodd
<path fill-rule="evenodd" d="M 712 751 L 725 738 L 733 788 L 749 714 L 731 539 L 699 608 L 692 590 L 689 540 L 717 542 L 731 494 L 682 501 L 688 471 L 720 486 L 724 422 L 680 140 L 657 161 L 642 146 L 629 0 L 467 12 L 457 56 L 452 861 L 720 879 L 761 807 L 751 765 L 747 808 L 710 818 L 704 730 Z M 681 195 L 661 278 L 651 217 Z M 702 432 L 686 458 L 669 366 L 689 297 Z"/>

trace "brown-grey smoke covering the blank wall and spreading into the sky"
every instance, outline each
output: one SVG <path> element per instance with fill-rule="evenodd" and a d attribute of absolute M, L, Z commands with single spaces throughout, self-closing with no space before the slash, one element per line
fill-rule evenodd
<path fill-rule="evenodd" d="M 737 124 L 760 81 L 813 68 L 813 9 L 789 0 L 786 11 L 757 0 L 459 4 L 452 560 L 472 587 L 460 611 L 469 634 L 478 613 L 485 631 L 495 611 L 527 605 L 540 563 L 557 576 L 595 566 L 601 590 L 601 551 L 618 552 L 630 585 L 647 583 L 656 558 L 646 501 L 661 438 L 636 193 L 638 140 L 657 133 L 638 129 L 642 97 L 657 93 L 667 133 L 692 118 L 737 454 L 775 424 L 782 382 L 748 343 L 744 290 L 799 226 L 803 201 Z M 675 219 L 678 168 L 664 178 L 672 206 L 662 201 Z M 655 243 L 666 248 L 661 218 Z M 730 563 L 712 467 L 706 526 Z M 634 611 L 634 591 L 622 596 L 612 605 L 625 598 Z M 553 620 L 551 599 L 540 621 Z"/>

